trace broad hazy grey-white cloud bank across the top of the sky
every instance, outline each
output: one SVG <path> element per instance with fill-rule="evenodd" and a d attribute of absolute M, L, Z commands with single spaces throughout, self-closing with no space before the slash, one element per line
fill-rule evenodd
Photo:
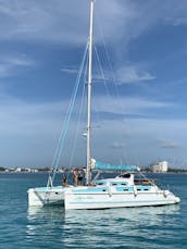
<path fill-rule="evenodd" d="M 96 1 L 96 20 L 107 40 L 123 45 L 159 22 L 186 25 L 187 3 L 167 0 L 157 1 Z M 1 40 L 45 40 L 46 42 L 85 42 L 89 27 L 89 1 L 61 0 L 0 0 Z M 114 25 L 115 24 L 115 25 Z M 97 26 L 97 25 L 96 25 Z M 120 30 L 120 32 L 119 32 Z M 100 37 L 100 38 L 99 38 Z M 96 40 L 101 41 L 96 30 Z"/>

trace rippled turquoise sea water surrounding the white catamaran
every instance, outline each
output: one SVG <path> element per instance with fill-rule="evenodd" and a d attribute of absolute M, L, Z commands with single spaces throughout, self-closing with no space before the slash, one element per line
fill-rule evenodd
<path fill-rule="evenodd" d="M 0 248 L 187 248 L 187 174 L 154 177 L 182 202 L 67 212 L 28 209 L 27 189 L 45 186 L 47 174 L 0 174 Z"/>

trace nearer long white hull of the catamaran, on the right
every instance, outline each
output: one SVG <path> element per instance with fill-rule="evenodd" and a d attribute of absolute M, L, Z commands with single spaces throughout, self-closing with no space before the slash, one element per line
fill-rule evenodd
<path fill-rule="evenodd" d="M 108 209 L 174 204 L 179 202 L 179 198 L 169 190 L 137 195 L 134 192 L 85 192 L 75 195 L 67 190 L 65 191 L 64 202 L 65 209 Z"/>

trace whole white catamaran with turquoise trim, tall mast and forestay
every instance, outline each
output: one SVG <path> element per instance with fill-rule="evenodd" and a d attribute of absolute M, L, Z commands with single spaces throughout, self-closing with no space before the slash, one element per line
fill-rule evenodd
<path fill-rule="evenodd" d="M 101 163 L 91 158 L 90 150 L 90 133 L 91 133 L 91 85 L 92 85 L 92 35 L 94 35 L 94 4 L 95 0 L 90 0 L 90 27 L 89 39 L 86 46 L 86 52 L 80 65 L 86 60 L 88 53 L 88 91 L 87 91 L 87 149 L 86 149 L 86 183 L 85 185 L 64 185 L 53 186 L 54 176 L 62 152 L 62 142 L 65 140 L 66 129 L 72 115 L 72 109 L 75 102 L 75 95 L 72 98 L 72 105 L 65 123 L 65 132 L 60 139 L 60 146 L 57 153 L 53 175 L 49 176 L 46 187 L 36 187 L 28 189 L 28 206 L 64 206 L 68 209 L 108 209 L 108 208 L 125 208 L 125 207 L 149 207 L 178 203 L 180 200 L 170 190 L 159 188 L 153 180 L 148 179 L 136 165 L 110 165 Z M 78 75 L 79 84 L 79 75 Z M 92 179 L 92 172 L 97 172 Z M 115 171 L 120 174 L 111 178 L 98 179 L 101 171 Z M 142 177 L 136 178 L 139 173 Z"/>

